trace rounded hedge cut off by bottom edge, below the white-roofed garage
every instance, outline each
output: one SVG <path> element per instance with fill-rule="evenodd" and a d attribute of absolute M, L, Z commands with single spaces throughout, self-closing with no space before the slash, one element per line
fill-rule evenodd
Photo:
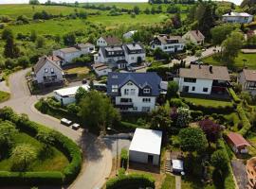
<path fill-rule="evenodd" d="M 106 182 L 106 189 L 134 189 L 146 187 L 155 188 L 155 180 L 145 174 L 120 175 Z"/>

